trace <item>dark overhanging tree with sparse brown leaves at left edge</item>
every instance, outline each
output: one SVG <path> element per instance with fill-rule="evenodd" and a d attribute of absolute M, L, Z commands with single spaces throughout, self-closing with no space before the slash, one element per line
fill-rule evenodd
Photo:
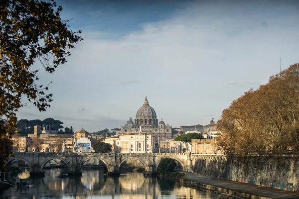
<path fill-rule="evenodd" d="M 48 85 L 37 83 L 38 70 L 32 65 L 39 61 L 53 73 L 66 63 L 68 49 L 82 40 L 81 31 L 69 29 L 68 20 L 62 20 L 62 6 L 54 0 L 1 0 L 0 3 L 0 139 L 11 139 L 17 123 L 16 111 L 33 103 L 39 111 L 50 107 L 52 95 L 46 94 Z M 5 119 L 5 121 L 4 121 Z M 8 137 L 6 136 L 8 133 Z M 1 148 L 3 160 L 11 151 Z M 0 167 L 1 168 L 1 167 Z"/>

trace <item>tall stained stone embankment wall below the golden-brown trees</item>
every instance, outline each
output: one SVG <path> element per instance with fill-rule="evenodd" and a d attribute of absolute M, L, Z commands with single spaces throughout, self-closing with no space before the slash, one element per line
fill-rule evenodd
<path fill-rule="evenodd" d="M 193 172 L 233 181 L 299 191 L 299 156 L 192 155 Z"/>

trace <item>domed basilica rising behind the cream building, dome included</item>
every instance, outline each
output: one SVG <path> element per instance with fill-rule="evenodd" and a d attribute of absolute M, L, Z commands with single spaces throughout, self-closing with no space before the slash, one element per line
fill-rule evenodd
<path fill-rule="evenodd" d="M 153 149 L 158 148 L 161 141 L 172 138 L 172 127 L 168 124 L 165 125 L 162 119 L 158 122 L 156 112 L 149 105 L 147 97 L 136 113 L 135 122 L 130 118 L 127 124 L 121 128 L 122 134 L 131 132 L 150 134 Z"/>

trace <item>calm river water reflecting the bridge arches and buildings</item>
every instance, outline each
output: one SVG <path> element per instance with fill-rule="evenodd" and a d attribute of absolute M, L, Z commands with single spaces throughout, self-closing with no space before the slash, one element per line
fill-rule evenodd
<path fill-rule="evenodd" d="M 66 169 L 45 172 L 44 178 L 29 179 L 28 189 L 0 192 L 0 199 L 232 199 L 137 172 L 114 178 L 98 170 L 83 170 L 81 178 L 68 178 Z M 18 176 L 29 178 L 29 171 Z"/>

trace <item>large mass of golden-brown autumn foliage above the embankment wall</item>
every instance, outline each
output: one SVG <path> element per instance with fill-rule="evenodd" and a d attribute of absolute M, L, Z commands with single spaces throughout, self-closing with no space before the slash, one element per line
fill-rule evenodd
<path fill-rule="evenodd" d="M 224 109 L 217 128 L 226 154 L 273 154 L 299 149 L 299 64 L 270 77 Z"/>

